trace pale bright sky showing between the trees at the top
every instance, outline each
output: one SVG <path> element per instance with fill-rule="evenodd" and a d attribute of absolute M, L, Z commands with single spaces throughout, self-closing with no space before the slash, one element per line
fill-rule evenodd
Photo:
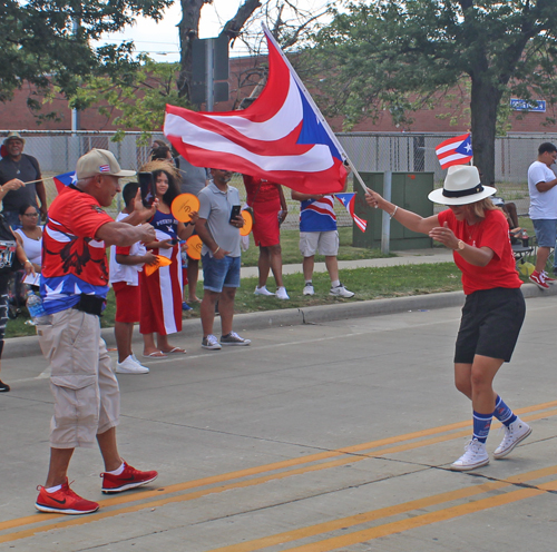
<path fill-rule="evenodd" d="M 212 4 L 205 4 L 202 10 L 199 24 L 199 38 L 216 37 L 224 22 L 234 17 L 241 0 L 213 0 Z M 314 10 L 326 3 L 326 0 L 297 0 L 302 8 Z M 111 33 L 104 42 L 119 42 L 134 40 L 137 52 L 148 53 L 155 61 L 178 61 L 179 42 L 177 24 L 182 19 L 179 1 L 165 11 L 165 16 L 158 23 L 141 18 L 133 27 L 127 27 L 123 32 Z M 236 41 L 231 50 L 231 56 L 246 56 L 247 48 L 241 41 Z"/>

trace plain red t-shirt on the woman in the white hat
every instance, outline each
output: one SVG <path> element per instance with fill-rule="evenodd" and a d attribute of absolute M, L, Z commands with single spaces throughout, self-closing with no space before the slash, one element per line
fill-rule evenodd
<path fill-rule="evenodd" d="M 518 277 L 516 260 L 509 238 L 509 225 L 505 215 L 496 210 L 486 210 L 486 218 L 475 225 L 459 221 L 450 209 L 438 215 L 439 225 L 448 223 L 458 239 L 473 247 L 489 247 L 494 257 L 487 266 L 467 263 L 460 254 L 453 253 L 455 263 L 462 272 L 462 287 L 466 295 L 479 289 L 496 287 L 518 288 L 522 282 Z"/>

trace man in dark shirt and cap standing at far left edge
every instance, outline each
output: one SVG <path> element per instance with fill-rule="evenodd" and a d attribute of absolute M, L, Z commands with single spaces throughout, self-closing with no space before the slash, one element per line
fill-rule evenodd
<path fill-rule="evenodd" d="M 20 225 L 19 209 L 23 205 L 37 207 L 41 217 L 47 218 L 47 193 L 41 180 L 39 161 L 23 154 L 25 145 L 25 138 L 18 132 L 10 132 L 3 141 L 8 155 L 0 160 L 2 215 L 12 227 Z M 37 196 L 40 207 L 37 205 Z"/>

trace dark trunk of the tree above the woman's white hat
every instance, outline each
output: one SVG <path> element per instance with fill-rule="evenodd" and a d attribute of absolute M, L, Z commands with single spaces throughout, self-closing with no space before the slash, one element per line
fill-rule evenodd
<path fill-rule="evenodd" d="M 486 73 L 472 75 L 471 80 L 473 164 L 481 172 L 481 183 L 490 186 L 495 183 L 495 137 L 501 91 L 494 86 Z"/>

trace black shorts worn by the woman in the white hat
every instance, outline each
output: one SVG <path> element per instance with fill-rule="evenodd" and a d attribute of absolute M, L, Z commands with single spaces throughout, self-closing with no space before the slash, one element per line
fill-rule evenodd
<path fill-rule="evenodd" d="M 462 307 L 455 363 L 472 364 L 475 355 L 509 362 L 525 314 L 520 288 L 497 287 L 468 295 Z"/>

